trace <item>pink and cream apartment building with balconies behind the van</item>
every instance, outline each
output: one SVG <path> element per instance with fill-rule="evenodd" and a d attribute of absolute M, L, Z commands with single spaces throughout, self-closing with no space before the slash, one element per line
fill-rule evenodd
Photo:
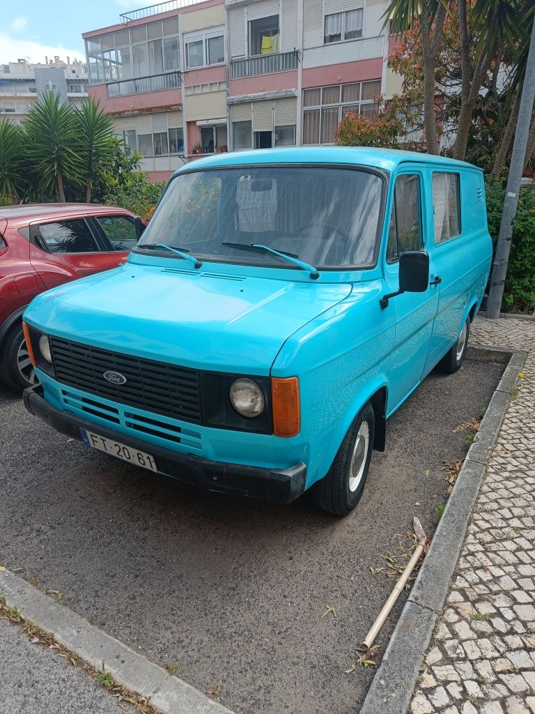
<path fill-rule="evenodd" d="M 332 144 L 387 91 L 387 0 L 170 0 L 86 32 L 89 93 L 151 178 L 197 154 Z"/>

